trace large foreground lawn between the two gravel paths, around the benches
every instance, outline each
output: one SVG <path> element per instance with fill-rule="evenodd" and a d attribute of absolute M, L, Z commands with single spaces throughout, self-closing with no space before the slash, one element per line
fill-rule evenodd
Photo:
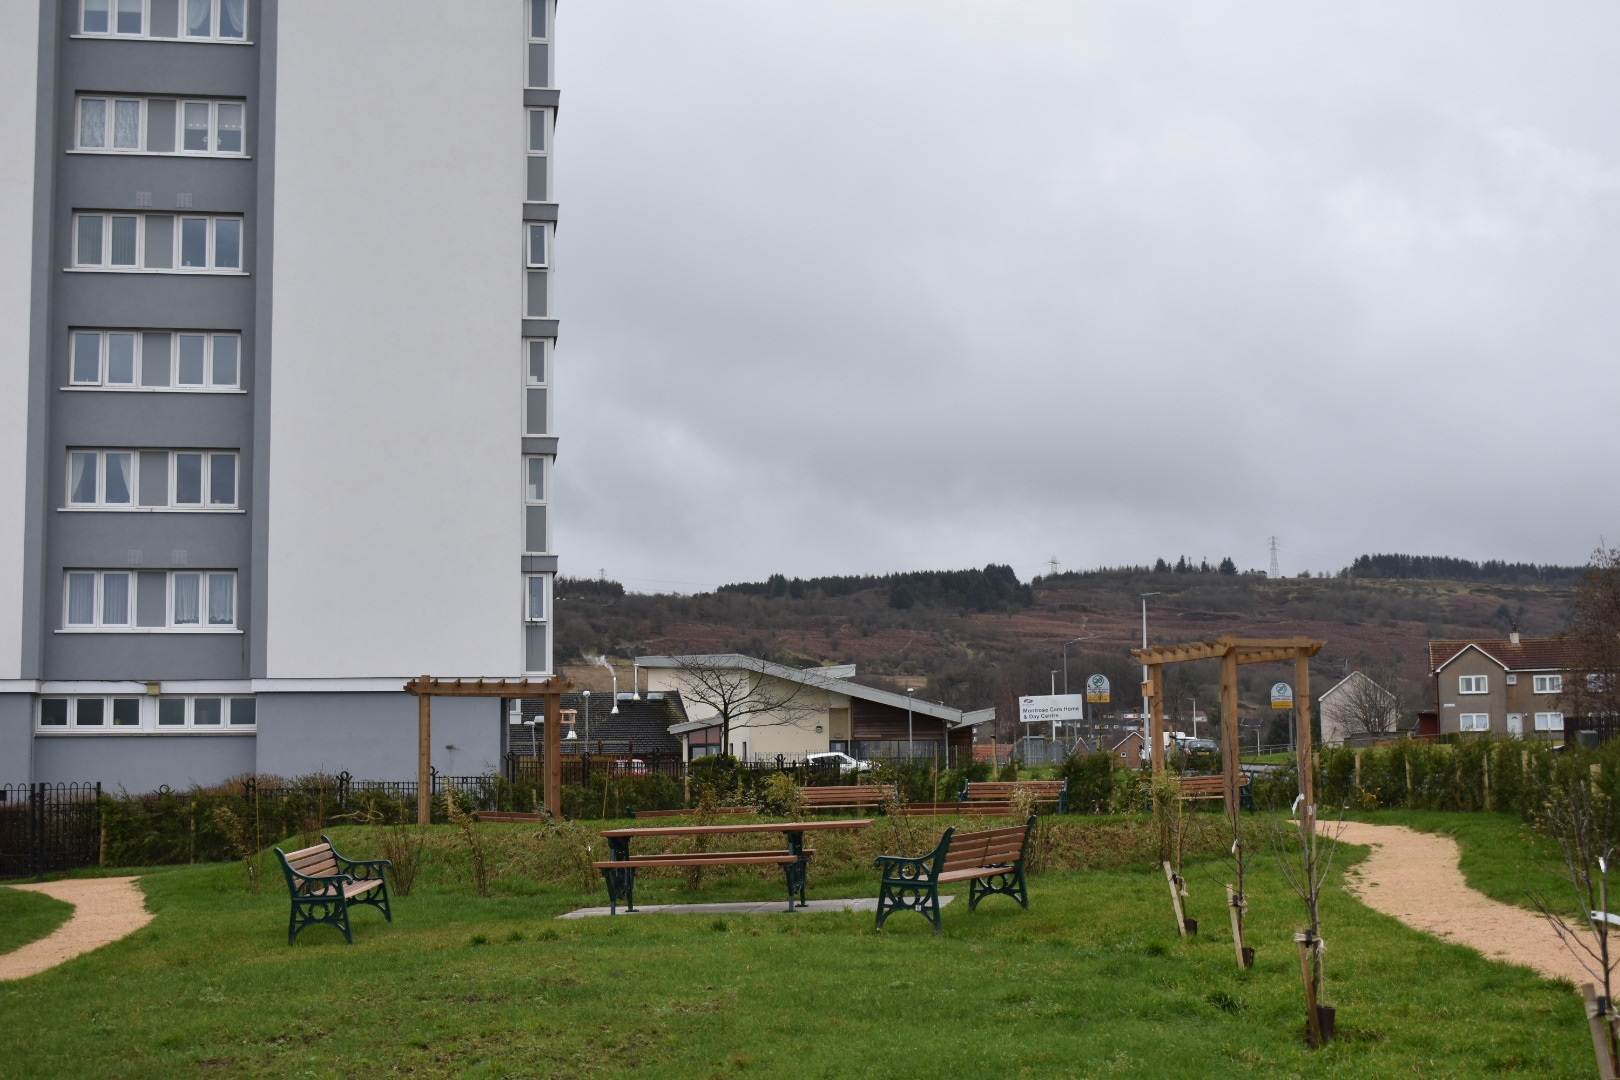
<path fill-rule="evenodd" d="M 377 831 L 335 839 L 379 852 Z M 1174 933 L 1163 876 L 1134 853 L 1132 868 L 1040 874 L 1029 912 L 990 899 L 970 915 L 957 900 L 935 938 L 904 913 L 883 934 L 865 913 L 556 921 L 603 904 L 603 889 L 577 866 L 512 858 L 499 860 L 497 895 L 480 899 L 450 844 L 436 829 L 392 926 L 356 913 L 353 947 L 327 928 L 288 947 L 279 878 L 253 894 L 240 865 L 147 874 L 151 926 L 0 984 L 0 1074 L 1591 1074 L 1568 986 L 1408 931 L 1338 887 L 1324 921 L 1340 1040 L 1304 1049 L 1298 902 L 1268 855 L 1251 868 L 1259 963 L 1244 973 L 1218 865 L 1187 871 L 1205 931 L 1192 942 Z M 812 897 L 875 892 L 868 871 L 836 865 L 812 871 Z M 778 894 L 779 874 L 726 871 L 697 892 L 650 881 L 638 899 Z"/>

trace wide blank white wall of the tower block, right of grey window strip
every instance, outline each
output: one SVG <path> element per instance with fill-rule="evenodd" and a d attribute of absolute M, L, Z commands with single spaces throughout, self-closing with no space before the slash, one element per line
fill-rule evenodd
<path fill-rule="evenodd" d="M 271 678 L 523 670 L 523 3 L 282 3 Z"/>

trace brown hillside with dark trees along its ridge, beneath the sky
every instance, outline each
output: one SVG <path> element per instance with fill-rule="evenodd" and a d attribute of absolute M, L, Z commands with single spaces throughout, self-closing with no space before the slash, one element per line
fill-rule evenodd
<path fill-rule="evenodd" d="M 556 654 L 747 653 L 784 664 L 857 664 L 862 682 L 914 685 L 957 708 L 1016 699 L 1089 674 L 1115 687 L 1113 711 L 1134 708 L 1140 597 L 1149 640 L 1306 635 L 1327 641 L 1312 662 L 1320 693 L 1354 669 L 1398 683 L 1422 708 L 1430 638 L 1560 633 L 1584 568 L 1362 555 L 1333 575 L 1268 578 L 1184 555 L 1140 567 L 1063 572 L 1021 581 L 1011 567 L 789 578 L 693 596 L 627 593 L 617 581 L 559 578 Z M 1429 573 L 1432 576 L 1421 576 Z M 599 669 L 598 669 L 599 670 Z M 577 678 L 590 680 L 580 667 Z M 1283 669 L 1244 669 L 1244 708 L 1264 717 L 1264 691 Z M 1170 669 L 1174 714 L 1213 706 L 1213 664 Z"/>

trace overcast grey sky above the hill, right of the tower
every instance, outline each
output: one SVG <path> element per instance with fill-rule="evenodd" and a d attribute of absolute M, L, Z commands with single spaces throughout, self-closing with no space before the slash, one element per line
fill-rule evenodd
<path fill-rule="evenodd" d="M 564 572 L 1583 562 L 1620 536 L 1617 23 L 564 3 Z"/>

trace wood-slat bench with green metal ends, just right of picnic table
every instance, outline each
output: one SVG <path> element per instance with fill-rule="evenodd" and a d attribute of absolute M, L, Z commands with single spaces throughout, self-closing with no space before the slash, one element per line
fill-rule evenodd
<path fill-rule="evenodd" d="M 956 881 L 967 884 L 967 910 L 987 895 L 1009 895 L 1029 908 L 1029 886 L 1024 881 L 1024 855 L 1035 814 L 1021 826 L 957 832 L 946 829 L 940 844 L 922 858 L 878 855 L 883 871 L 878 886 L 878 929 L 894 912 L 917 912 L 940 933 L 940 886 Z"/>

